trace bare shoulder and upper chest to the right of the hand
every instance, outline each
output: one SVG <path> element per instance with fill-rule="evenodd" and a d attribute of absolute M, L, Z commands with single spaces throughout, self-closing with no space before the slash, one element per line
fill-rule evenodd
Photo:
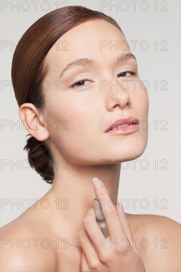
<path fill-rule="evenodd" d="M 150 272 L 181 271 L 181 225 L 165 216 L 127 214 L 133 237 Z"/>

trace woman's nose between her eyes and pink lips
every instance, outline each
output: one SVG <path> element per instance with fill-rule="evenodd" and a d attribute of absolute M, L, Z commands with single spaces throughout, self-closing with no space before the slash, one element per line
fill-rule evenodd
<path fill-rule="evenodd" d="M 121 86 L 120 81 L 109 80 L 109 86 L 106 87 L 106 108 L 108 111 L 113 111 L 115 108 L 131 107 L 130 94 L 127 89 Z"/>

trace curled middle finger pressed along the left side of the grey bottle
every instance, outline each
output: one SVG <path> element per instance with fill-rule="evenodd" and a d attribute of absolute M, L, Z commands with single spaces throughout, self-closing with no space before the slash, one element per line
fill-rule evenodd
<path fill-rule="evenodd" d="M 90 240 L 95 248 L 97 254 L 100 254 L 100 243 L 107 244 L 107 240 L 104 237 L 101 228 L 96 222 L 96 216 L 94 208 L 90 208 L 86 213 L 86 216 L 83 220 L 84 227 L 87 231 L 87 234 L 90 237 Z"/>

